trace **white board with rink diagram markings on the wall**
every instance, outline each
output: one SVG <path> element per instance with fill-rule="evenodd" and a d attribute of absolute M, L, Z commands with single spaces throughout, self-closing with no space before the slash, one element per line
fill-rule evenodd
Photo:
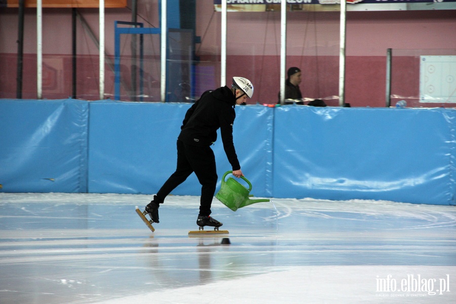
<path fill-rule="evenodd" d="M 456 103 L 456 56 L 420 56 L 420 102 Z"/>

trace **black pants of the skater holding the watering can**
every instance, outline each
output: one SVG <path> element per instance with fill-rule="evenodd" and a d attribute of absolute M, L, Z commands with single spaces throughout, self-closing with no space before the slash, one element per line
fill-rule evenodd
<path fill-rule="evenodd" d="M 177 140 L 177 167 L 157 193 L 157 200 L 163 203 L 165 198 L 178 185 L 195 172 L 201 184 L 200 215 L 211 214 L 212 198 L 217 184 L 214 152 L 210 147 L 199 147 Z"/>

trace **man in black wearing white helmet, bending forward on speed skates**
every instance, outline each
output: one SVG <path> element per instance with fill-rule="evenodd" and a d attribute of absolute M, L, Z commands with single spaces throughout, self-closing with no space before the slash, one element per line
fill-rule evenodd
<path fill-rule="evenodd" d="M 215 156 L 211 145 L 217 139 L 217 130 L 223 142 L 226 157 L 233 168 L 235 177 L 244 176 L 233 144 L 233 123 L 236 105 L 253 95 L 252 83 L 243 77 L 233 77 L 231 89 L 227 86 L 206 91 L 185 113 L 177 137 L 176 171 L 160 188 L 154 200 L 145 208 L 150 218 L 158 223 L 158 208 L 165 198 L 190 174 L 195 172 L 201 183 L 200 212 L 197 224 L 219 227 L 221 222 L 210 217 L 212 198 L 217 184 Z"/>

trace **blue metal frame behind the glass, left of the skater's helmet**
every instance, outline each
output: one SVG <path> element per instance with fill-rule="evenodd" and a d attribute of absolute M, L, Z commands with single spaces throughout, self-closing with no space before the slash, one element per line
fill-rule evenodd
<path fill-rule="evenodd" d="M 118 25 L 134 25 L 136 27 L 119 27 Z M 120 100 L 120 35 L 121 34 L 140 34 L 139 36 L 139 94 L 141 96 L 143 93 L 143 34 L 161 34 L 160 28 L 147 27 L 144 28 L 143 24 L 140 22 L 126 22 L 126 21 L 115 21 L 114 22 L 114 44 L 115 44 L 115 54 L 114 54 L 114 98 Z"/>

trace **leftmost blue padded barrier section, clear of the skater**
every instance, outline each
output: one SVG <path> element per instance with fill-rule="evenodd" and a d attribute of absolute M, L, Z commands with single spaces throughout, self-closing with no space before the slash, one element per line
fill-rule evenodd
<path fill-rule="evenodd" d="M 4 192 L 87 192 L 88 102 L 0 100 Z"/>

